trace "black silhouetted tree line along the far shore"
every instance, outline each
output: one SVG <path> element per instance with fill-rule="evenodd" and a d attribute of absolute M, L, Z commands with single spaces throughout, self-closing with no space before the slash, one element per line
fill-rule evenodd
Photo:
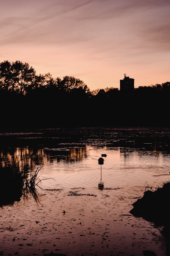
<path fill-rule="evenodd" d="M 90 91 L 73 76 L 36 74 L 21 61 L 0 63 L 1 128 L 169 126 L 170 82 Z"/>

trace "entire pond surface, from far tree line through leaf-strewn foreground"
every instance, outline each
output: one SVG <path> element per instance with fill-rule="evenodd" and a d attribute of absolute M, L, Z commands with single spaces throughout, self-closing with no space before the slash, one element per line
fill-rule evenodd
<path fill-rule="evenodd" d="M 21 198 L 0 210 L 1 255 L 166 255 L 160 230 L 129 211 L 147 186 L 169 181 L 169 129 L 5 132 L 0 143 L 1 166 L 41 166 L 40 177 L 53 178 L 42 181 L 38 204 Z"/>

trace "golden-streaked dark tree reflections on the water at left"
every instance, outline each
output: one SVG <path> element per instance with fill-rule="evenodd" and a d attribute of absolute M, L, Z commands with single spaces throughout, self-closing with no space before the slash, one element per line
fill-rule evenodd
<path fill-rule="evenodd" d="M 7 164 L 12 165 L 14 161 L 20 163 L 23 168 L 26 164 L 30 169 L 37 165 L 47 165 L 48 162 L 77 162 L 87 157 L 87 146 L 70 148 L 36 148 L 16 147 L 0 150 L 0 168 Z"/>

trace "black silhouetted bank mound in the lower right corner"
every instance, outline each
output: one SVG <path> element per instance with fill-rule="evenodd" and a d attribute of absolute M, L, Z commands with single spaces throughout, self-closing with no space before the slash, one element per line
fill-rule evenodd
<path fill-rule="evenodd" d="M 143 197 L 132 204 L 133 209 L 130 213 L 135 217 L 142 217 L 146 221 L 154 223 L 166 238 L 166 255 L 170 255 L 170 181 L 155 190 L 150 186 L 146 186 L 146 189 Z"/>

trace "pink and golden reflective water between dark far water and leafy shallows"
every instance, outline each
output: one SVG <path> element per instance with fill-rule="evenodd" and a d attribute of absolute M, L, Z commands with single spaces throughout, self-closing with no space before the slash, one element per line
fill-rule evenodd
<path fill-rule="evenodd" d="M 147 182 L 161 185 L 168 181 L 170 158 L 168 153 L 124 147 L 62 147 L 9 148 L 0 151 L 0 164 L 19 161 L 21 167 L 31 169 L 42 165 L 41 174 L 54 180 L 43 182 L 44 188 L 97 187 L 100 182 L 98 159 L 105 154 L 102 181 L 105 187 L 144 186 Z"/>

